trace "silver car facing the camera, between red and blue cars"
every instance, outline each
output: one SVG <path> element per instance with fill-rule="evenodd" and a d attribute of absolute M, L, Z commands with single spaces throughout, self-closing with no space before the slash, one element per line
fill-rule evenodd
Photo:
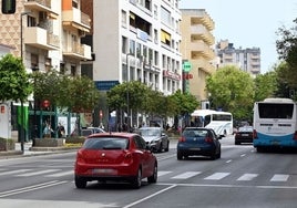
<path fill-rule="evenodd" d="M 162 127 L 141 127 L 137 133 L 151 146 L 153 152 L 170 150 L 170 138 Z"/>

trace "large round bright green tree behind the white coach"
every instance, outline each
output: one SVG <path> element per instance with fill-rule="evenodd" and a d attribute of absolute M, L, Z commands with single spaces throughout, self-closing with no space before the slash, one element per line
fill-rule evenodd
<path fill-rule="evenodd" d="M 254 104 L 254 82 L 250 74 L 228 65 L 206 79 L 213 108 L 233 113 L 236 119 L 250 118 Z"/>

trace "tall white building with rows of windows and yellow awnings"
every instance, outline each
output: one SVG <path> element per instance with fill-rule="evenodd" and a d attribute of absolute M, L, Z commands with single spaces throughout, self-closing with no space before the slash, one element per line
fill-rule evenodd
<path fill-rule="evenodd" d="M 141 81 L 165 95 L 182 89 L 178 0 L 94 0 L 93 80 L 107 91 Z"/>

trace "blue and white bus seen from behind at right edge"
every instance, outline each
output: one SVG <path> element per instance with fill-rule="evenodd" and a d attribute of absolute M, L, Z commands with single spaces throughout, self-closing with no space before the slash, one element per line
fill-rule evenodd
<path fill-rule="evenodd" d="M 266 98 L 254 104 L 257 152 L 268 147 L 297 147 L 297 104 L 290 98 Z"/>

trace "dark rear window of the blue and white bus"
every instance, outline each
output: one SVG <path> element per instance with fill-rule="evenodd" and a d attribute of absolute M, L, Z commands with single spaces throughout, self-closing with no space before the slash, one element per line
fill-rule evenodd
<path fill-rule="evenodd" d="M 284 118 L 290 119 L 293 117 L 294 104 L 279 103 L 259 103 L 258 112 L 259 118 Z"/>

